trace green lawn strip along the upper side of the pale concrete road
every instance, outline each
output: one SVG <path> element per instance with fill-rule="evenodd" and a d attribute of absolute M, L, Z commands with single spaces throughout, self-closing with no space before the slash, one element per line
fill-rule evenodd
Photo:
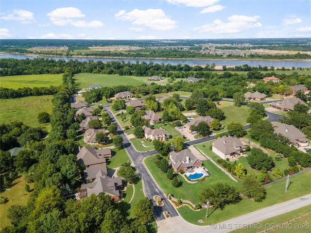
<path fill-rule="evenodd" d="M 198 225 L 198 220 L 203 219 L 201 225 L 211 225 L 212 223 L 222 222 L 227 219 L 241 216 L 268 206 L 272 206 L 283 201 L 292 200 L 311 193 L 311 186 L 306 185 L 311 182 L 311 171 L 299 174 L 291 178 L 291 184 L 288 191 L 285 192 L 286 181 L 273 184 L 266 187 L 267 196 L 262 202 L 255 202 L 249 199 L 242 199 L 237 204 L 227 205 L 223 211 L 209 209 L 209 215 L 206 220 L 205 211 L 192 211 L 189 207 L 178 208 L 179 214 L 188 222 Z M 204 210 L 204 209 L 203 209 Z M 186 213 L 184 213 L 186 212 Z"/>

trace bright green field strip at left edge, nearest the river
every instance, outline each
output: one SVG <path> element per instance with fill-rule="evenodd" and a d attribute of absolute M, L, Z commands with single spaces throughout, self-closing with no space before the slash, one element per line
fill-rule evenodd
<path fill-rule="evenodd" d="M 17 89 L 20 87 L 58 86 L 63 83 L 63 74 L 31 74 L 1 77 L 0 86 Z"/>

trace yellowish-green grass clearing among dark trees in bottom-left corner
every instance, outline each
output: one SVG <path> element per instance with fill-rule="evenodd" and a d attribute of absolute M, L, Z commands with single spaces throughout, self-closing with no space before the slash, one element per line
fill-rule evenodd
<path fill-rule="evenodd" d="M 11 197 L 8 191 L 3 191 L 0 193 L 0 196 L 8 198 L 8 202 L 5 204 L 1 204 L 0 206 L 0 219 L 1 219 L 1 224 L 0 224 L 0 229 L 5 226 L 10 226 L 10 220 L 6 217 L 7 215 L 7 210 L 11 205 L 26 205 L 27 200 L 29 199 L 30 195 L 32 193 L 26 192 L 25 191 L 25 185 L 27 184 L 24 180 L 24 176 L 20 176 L 13 182 L 13 186 L 10 188 L 11 189 Z M 29 183 L 30 189 L 34 188 L 34 183 Z"/>

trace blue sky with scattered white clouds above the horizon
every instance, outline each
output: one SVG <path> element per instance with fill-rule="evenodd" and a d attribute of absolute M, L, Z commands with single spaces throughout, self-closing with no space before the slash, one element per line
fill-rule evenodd
<path fill-rule="evenodd" d="M 311 37 L 311 0 L 1 0 L 1 39 Z"/>

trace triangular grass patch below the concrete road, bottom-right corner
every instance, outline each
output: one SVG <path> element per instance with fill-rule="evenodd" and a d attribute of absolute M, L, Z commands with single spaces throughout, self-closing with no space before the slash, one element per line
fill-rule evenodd
<path fill-rule="evenodd" d="M 310 212 L 311 210 L 311 205 L 296 209 L 294 211 L 288 212 L 286 214 L 283 215 L 279 215 L 279 216 L 275 216 L 275 217 L 271 217 L 267 220 L 261 221 L 259 222 L 258 226 L 263 226 L 263 229 L 257 229 L 258 231 L 263 231 L 264 228 L 266 229 L 272 226 L 276 226 L 278 224 L 281 224 L 277 229 L 275 230 L 271 230 L 269 232 L 273 232 L 273 233 L 292 233 L 294 230 L 296 230 L 296 232 L 305 232 L 305 233 L 309 233 L 310 229 L 311 229 L 311 214 L 304 216 L 302 218 L 296 219 L 293 222 L 290 222 L 288 224 L 286 224 L 287 221 L 293 220 L 294 218 L 306 215 L 308 212 Z M 309 228 L 308 228 L 308 224 L 309 224 Z M 257 226 L 257 225 L 256 225 Z M 297 227 L 297 229 L 294 229 L 295 227 Z M 254 229 L 239 229 L 239 230 L 235 230 L 233 232 L 236 233 L 253 233 Z"/>

